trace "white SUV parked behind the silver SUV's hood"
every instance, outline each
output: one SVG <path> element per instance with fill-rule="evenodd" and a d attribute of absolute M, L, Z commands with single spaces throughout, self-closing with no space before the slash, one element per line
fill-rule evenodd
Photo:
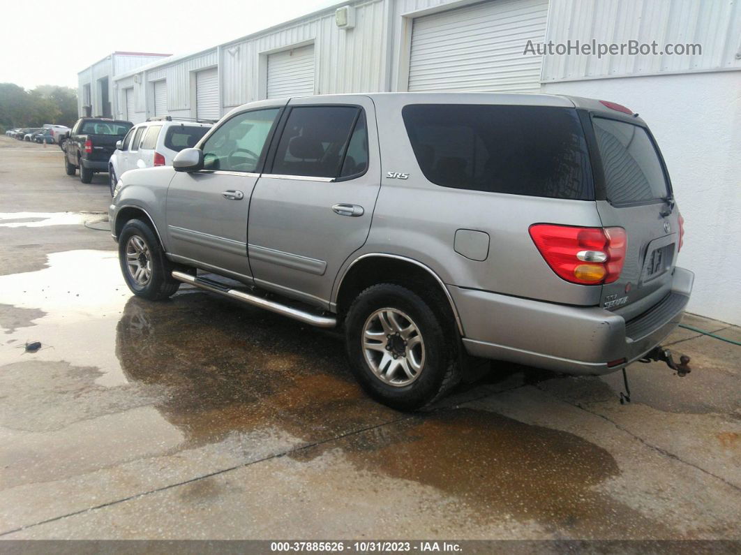
<path fill-rule="evenodd" d="M 184 148 L 194 147 L 213 126 L 210 123 L 175 120 L 170 116 L 151 118 L 132 127 L 116 143 L 110 156 L 108 176 L 110 194 L 124 172 L 142 167 L 171 166 L 173 158 Z"/>

